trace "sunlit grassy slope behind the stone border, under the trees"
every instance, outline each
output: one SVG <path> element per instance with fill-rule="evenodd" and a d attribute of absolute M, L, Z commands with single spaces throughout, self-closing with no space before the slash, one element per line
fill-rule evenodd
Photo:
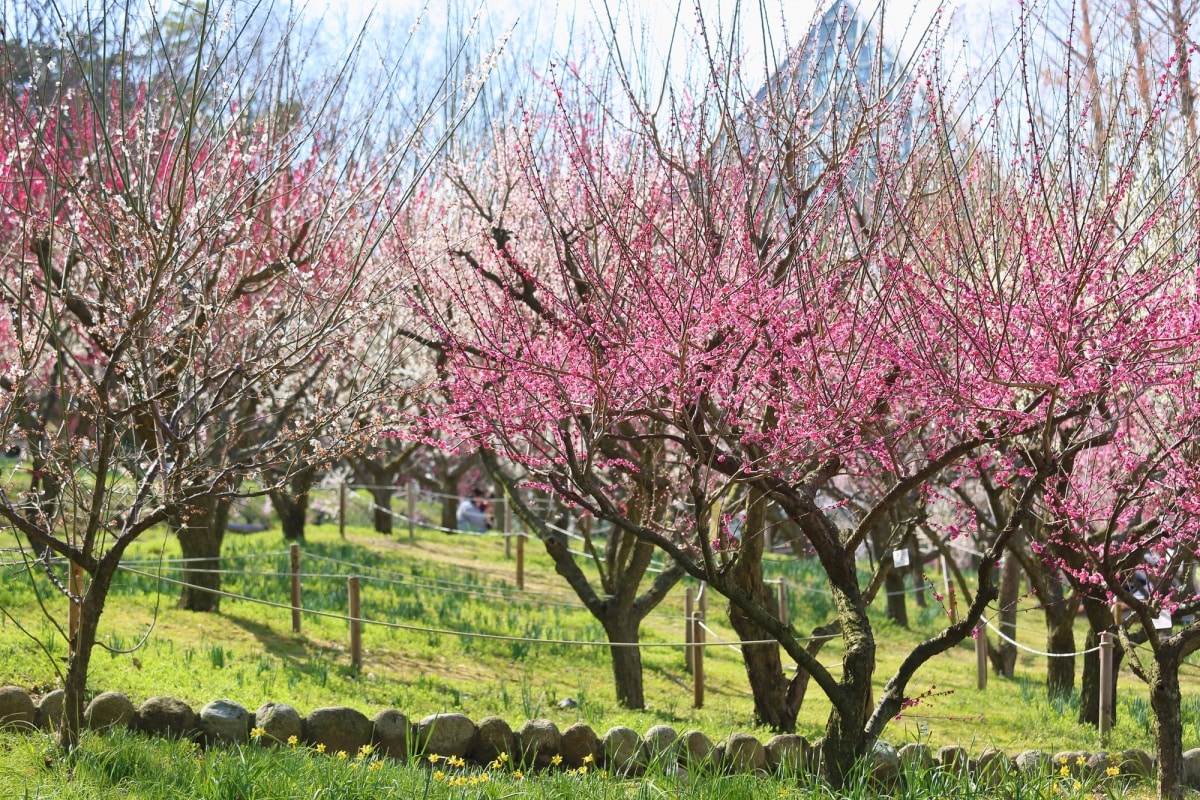
<path fill-rule="evenodd" d="M 13 546 L 0 535 L 0 548 Z M 277 533 L 230 536 L 226 549 L 226 585 L 236 594 L 286 602 L 284 577 L 264 572 L 286 570 L 287 557 Z M 146 540 L 131 558 L 178 557 L 169 537 Z M 263 557 L 276 553 L 277 555 Z M 316 557 L 360 565 L 368 576 L 364 584 L 364 616 L 418 627 L 454 631 L 534 636 L 578 640 L 602 640 L 589 615 L 571 602 L 565 583 L 535 543 L 527 549 L 526 591 L 515 590 L 515 565 L 504 554 L 499 537 L 448 536 L 419 531 L 415 540 L 401 533 L 378 536 L 352 528 L 340 540 L 336 527 L 311 529 L 305 545 L 305 572 L 343 573 L 346 565 Z M 370 567 L 370 569 L 362 569 Z M 815 576 L 792 559 L 772 565 L 788 573 L 793 621 L 800 630 L 823 619 L 827 601 Z M 155 569 L 155 567 L 146 567 Z M 174 575 L 174 573 L 168 573 Z M 370 576 L 374 576 L 371 579 Z M 386 581 L 383 581 L 383 579 Z M 96 691 L 119 690 L 139 702 L 155 694 L 173 694 L 196 708 L 226 697 L 257 708 L 266 700 L 288 702 L 301 712 L 322 705 L 352 705 L 372 714 L 398 708 L 412 718 L 437 711 L 458 710 L 473 718 L 504 716 L 514 726 L 532 716 L 566 726 L 589 722 L 601 733 L 613 724 L 646 730 L 666 722 L 677 729 L 700 728 L 714 739 L 736 729 L 751 729 L 751 702 L 738 655 L 728 648 L 709 648 L 706 657 L 706 703 L 691 708 L 691 678 L 676 648 L 646 648 L 648 710 L 628 711 L 616 705 L 608 657 L 604 648 L 492 642 L 463 636 L 367 626 L 364 633 L 365 666 L 361 675 L 349 669 L 347 624 L 338 619 L 306 615 L 301 634 L 290 632 L 284 608 L 224 600 L 220 615 L 175 610 L 176 590 L 133 575 L 122 575 L 114 590 L 102 639 L 118 649 L 132 648 L 146 633 L 145 644 L 132 654 L 100 651 L 94 660 L 91 686 Z M 40 582 L 44 589 L 46 581 Z M 805 585 L 809 590 L 805 590 Z M 46 599 L 47 608 L 65 619 L 61 596 Z M 344 614 L 343 577 L 306 578 L 308 609 Z M 0 608 L 47 644 L 61 658 L 64 643 L 54 626 L 40 613 L 28 582 L 19 570 L 4 570 Z M 917 612 L 912 631 L 882 620 L 880 684 L 895 668 L 922 633 L 935 630 L 941 608 Z M 677 588 L 644 626 L 648 643 L 683 638 L 683 588 Z M 714 602 L 709 625 L 722 637 L 733 638 L 724 609 Z M 1022 642 L 1042 645 L 1040 616 L 1022 615 Z M 1082 624 L 1081 624 L 1082 627 Z M 1080 637 L 1081 638 L 1081 637 Z M 838 661 L 838 649 L 827 646 L 824 663 Z M 974 655 L 967 643 L 923 669 L 911 693 L 931 690 L 936 694 L 892 723 L 886 738 L 895 744 L 923 740 L 937 746 L 961 744 L 973 752 L 998 746 L 1009 752 L 1028 747 L 1045 750 L 1096 748 L 1094 732 L 1074 724 L 1069 702 L 1050 703 L 1042 681 L 1044 660 L 1022 655 L 1018 678 L 990 678 L 986 691 L 974 688 Z M 1184 696 L 1200 690 L 1196 669 L 1184 672 Z M 49 660 L 11 619 L 0 621 L 0 684 L 17 684 L 34 691 L 54 686 Z M 816 692 L 814 688 L 812 692 Z M 576 709 L 558 709 L 557 702 L 572 697 Z M 1148 705 L 1141 684 L 1128 672 L 1121 676 L 1120 723 L 1111 747 L 1150 747 Z M 828 703 L 816 693 L 802 711 L 799 732 L 810 739 L 821 735 Z M 1200 703 L 1186 702 L 1184 746 L 1198 741 Z M 758 732 L 762 738 L 769 735 Z"/>

